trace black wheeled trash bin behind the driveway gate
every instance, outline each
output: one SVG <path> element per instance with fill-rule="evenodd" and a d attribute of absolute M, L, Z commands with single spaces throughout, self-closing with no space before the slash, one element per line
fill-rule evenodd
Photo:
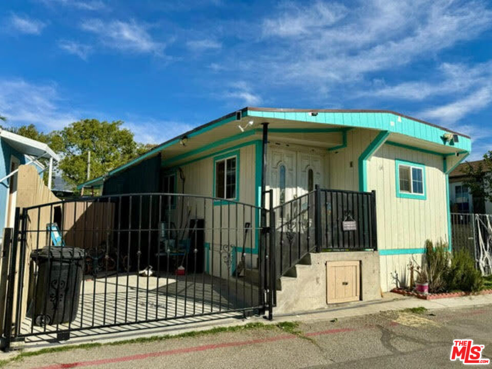
<path fill-rule="evenodd" d="M 37 263 L 29 316 L 34 325 L 44 326 L 75 320 L 84 265 L 84 250 L 54 247 L 34 250 Z"/>

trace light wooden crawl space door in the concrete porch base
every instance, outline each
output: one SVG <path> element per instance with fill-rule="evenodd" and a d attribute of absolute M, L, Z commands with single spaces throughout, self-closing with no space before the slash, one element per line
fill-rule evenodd
<path fill-rule="evenodd" d="M 326 303 L 360 299 L 360 262 L 326 262 Z"/>

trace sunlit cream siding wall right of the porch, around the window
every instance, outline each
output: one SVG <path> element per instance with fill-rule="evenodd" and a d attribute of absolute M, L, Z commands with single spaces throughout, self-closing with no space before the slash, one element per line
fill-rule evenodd
<path fill-rule="evenodd" d="M 425 165 L 426 200 L 396 197 L 395 159 Z M 426 239 L 448 241 L 446 182 L 443 158 L 392 145 L 383 145 L 367 162 L 368 190 L 376 190 L 379 250 L 422 249 Z M 408 262 L 422 254 L 382 255 L 381 288 L 391 290 L 398 274 L 407 278 Z"/>

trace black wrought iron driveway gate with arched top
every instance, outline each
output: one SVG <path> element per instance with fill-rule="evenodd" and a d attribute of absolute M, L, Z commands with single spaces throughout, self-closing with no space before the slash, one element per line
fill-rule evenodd
<path fill-rule="evenodd" d="M 17 209 L 4 350 L 170 320 L 272 318 L 274 218 L 241 202 L 161 193 Z"/>

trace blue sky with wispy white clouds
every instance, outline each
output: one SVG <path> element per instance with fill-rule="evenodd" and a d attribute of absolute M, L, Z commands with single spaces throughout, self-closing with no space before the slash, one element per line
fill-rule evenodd
<path fill-rule="evenodd" d="M 0 45 L 12 125 L 158 143 L 244 106 L 391 109 L 492 149 L 490 2 L 4 1 Z"/>

